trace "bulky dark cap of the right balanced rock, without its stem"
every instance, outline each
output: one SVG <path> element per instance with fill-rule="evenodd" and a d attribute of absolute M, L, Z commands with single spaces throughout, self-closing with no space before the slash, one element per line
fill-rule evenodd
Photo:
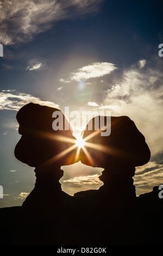
<path fill-rule="evenodd" d="M 110 135 L 102 136 L 101 132 L 104 131 L 99 129 L 98 132 L 98 129 L 96 129 L 96 121 L 97 123 L 99 121 L 99 127 L 101 127 L 101 118 L 104 119 L 103 127 L 106 127 L 108 125 L 107 117 L 98 116 L 89 121 L 82 134 L 86 142 L 92 143 L 91 147 L 89 144 L 87 145 L 87 150 L 93 160 L 93 167 L 105 168 L 108 166 L 108 162 L 113 161 L 136 167 L 149 161 L 151 157 L 150 150 L 145 137 L 137 129 L 134 121 L 126 116 L 111 117 L 109 123 Z M 89 127 L 92 127 L 92 130 L 89 130 Z M 95 136 L 93 136 L 93 133 Z M 92 162 L 84 153 L 81 156 L 81 161 L 84 164 L 92 165 Z"/>

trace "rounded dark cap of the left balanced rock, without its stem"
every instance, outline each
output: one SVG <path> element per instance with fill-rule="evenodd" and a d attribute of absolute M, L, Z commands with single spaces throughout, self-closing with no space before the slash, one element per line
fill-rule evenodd
<path fill-rule="evenodd" d="M 32 167 L 51 159 L 59 166 L 73 163 L 72 151 L 55 157 L 71 147 L 74 139 L 71 126 L 59 109 L 29 103 L 18 111 L 16 118 L 20 124 L 18 132 L 22 135 L 15 147 L 18 160 Z M 53 130 L 53 122 L 56 120 L 57 123 L 57 119 L 60 127 Z"/>

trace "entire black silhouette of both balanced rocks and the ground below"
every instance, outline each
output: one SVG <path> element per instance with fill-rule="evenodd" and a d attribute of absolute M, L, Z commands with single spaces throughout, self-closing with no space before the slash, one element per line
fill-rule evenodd
<path fill-rule="evenodd" d="M 111 135 L 85 130 L 83 138 L 96 147 L 80 150 L 80 161 L 102 167 L 99 190 L 69 196 L 61 190 L 61 166 L 74 163 L 76 150 L 60 155 L 72 146 L 72 129 L 64 119 L 64 130 L 52 129 L 52 114 L 59 109 L 34 103 L 17 113 L 22 135 L 15 147 L 18 160 L 35 167 L 36 183 L 22 206 L 0 209 L 3 218 L 1 244 L 9 245 L 136 245 L 161 244 L 162 201 L 158 187 L 136 197 L 135 167 L 149 161 L 145 137 L 128 117 L 111 117 Z M 99 117 L 98 117 L 99 118 Z M 59 139 L 60 137 L 64 139 Z M 66 140 L 65 138 L 69 138 Z M 61 156 L 61 157 L 58 157 Z M 8 239 L 6 239 L 8 237 Z"/>

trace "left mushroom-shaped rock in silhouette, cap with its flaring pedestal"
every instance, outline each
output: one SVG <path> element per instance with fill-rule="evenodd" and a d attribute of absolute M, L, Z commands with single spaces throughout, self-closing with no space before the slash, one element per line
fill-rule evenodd
<path fill-rule="evenodd" d="M 67 198 L 69 202 L 70 196 L 61 190 L 60 168 L 74 163 L 75 149 L 70 149 L 76 146 L 75 138 L 70 124 L 57 108 L 29 103 L 18 111 L 16 118 L 22 137 L 15 147 L 15 156 L 35 167 L 36 175 L 35 187 L 23 202 L 23 212 L 29 219 L 47 220 L 49 212 L 55 217 L 65 207 Z M 60 125 L 58 130 L 57 125 Z"/>

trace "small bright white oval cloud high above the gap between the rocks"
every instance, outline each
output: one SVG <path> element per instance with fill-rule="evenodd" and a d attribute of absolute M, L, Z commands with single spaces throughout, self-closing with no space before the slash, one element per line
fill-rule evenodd
<path fill-rule="evenodd" d="M 95 62 L 91 65 L 83 66 L 76 73 L 72 73 L 71 80 L 82 81 L 89 78 L 102 77 L 117 69 L 114 64 L 108 62 Z"/>

